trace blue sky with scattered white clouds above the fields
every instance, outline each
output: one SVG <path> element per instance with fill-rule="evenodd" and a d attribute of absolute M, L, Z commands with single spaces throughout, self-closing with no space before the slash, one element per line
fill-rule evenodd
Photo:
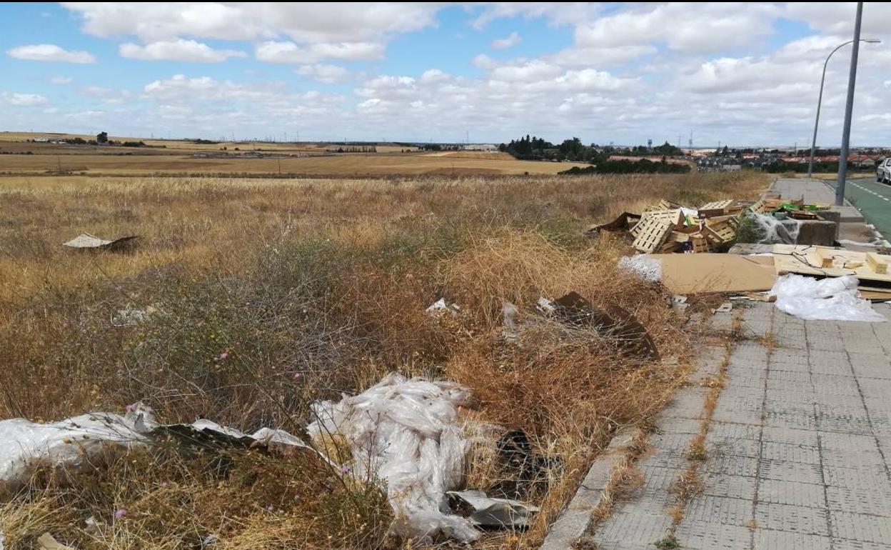
<path fill-rule="evenodd" d="M 0 130 L 810 145 L 854 3 L 0 4 Z M 853 146 L 891 145 L 891 3 L 865 3 Z M 851 45 L 827 66 L 838 146 Z"/>

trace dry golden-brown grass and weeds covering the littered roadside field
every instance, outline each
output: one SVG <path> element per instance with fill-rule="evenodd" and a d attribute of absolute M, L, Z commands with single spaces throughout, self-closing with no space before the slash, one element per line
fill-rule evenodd
<path fill-rule="evenodd" d="M 613 431 L 669 398 L 683 378 L 677 358 L 698 337 L 665 291 L 617 272 L 621 244 L 592 248 L 583 228 L 661 197 L 763 185 L 747 175 L 0 179 L 0 416 L 56 419 L 143 399 L 163 421 L 298 431 L 312 400 L 388 371 L 452 379 L 478 400 L 469 425 L 495 424 L 494 437 L 522 429 L 551 461 L 546 483 L 523 491 L 543 508 L 531 529 L 480 543 L 534 547 Z M 142 238 L 129 254 L 59 246 L 81 231 Z M 531 308 L 569 290 L 634 312 L 666 361 L 622 357 Z M 440 296 L 462 314 L 425 315 Z M 519 308 L 516 342 L 502 337 L 505 300 Z M 148 306 L 144 324 L 109 323 L 118 308 Z M 488 441 L 475 449 L 472 488 L 515 480 Z M 160 448 L 45 472 L 4 497 L 0 530 L 11 548 L 44 530 L 83 548 L 200 547 L 208 534 L 238 549 L 401 544 L 383 536 L 378 488 L 339 485 L 306 456 L 233 456 L 225 472 L 201 460 Z M 128 510 L 121 521 L 117 508 Z M 167 509 L 179 513 L 149 512 Z M 87 529 L 90 516 L 101 533 Z"/>

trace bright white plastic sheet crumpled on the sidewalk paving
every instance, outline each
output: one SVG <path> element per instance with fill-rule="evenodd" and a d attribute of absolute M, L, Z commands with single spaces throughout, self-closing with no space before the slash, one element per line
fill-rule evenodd
<path fill-rule="evenodd" d="M 857 291 L 857 277 L 845 275 L 822 280 L 804 275 L 783 275 L 770 293 L 776 307 L 789 315 L 807 320 L 866 321 L 879 323 L 885 316 L 863 300 Z"/>

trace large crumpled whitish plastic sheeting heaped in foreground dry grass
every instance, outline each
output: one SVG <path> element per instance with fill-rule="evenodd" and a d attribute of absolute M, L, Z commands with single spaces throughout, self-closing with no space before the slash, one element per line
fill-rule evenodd
<path fill-rule="evenodd" d="M 317 440 L 339 434 L 352 452 L 352 472 L 386 481 L 396 535 L 470 542 L 479 531 L 451 514 L 446 497 L 462 485 L 467 442 L 457 418 L 469 399 L 470 391 L 454 382 L 388 374 L 356 396 L 316 403 L 317 420 L 307 431 Z"/>

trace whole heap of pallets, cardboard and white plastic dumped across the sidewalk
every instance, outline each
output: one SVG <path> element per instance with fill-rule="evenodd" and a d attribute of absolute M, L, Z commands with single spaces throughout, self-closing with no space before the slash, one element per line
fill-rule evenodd
<path fill-rule="evenodd" d="M 587 234 L 625 238 L 641 254 L 619 259 L 618 267 L 664 284 L 683 300 L 688 294 L 741 293 L 737 298 L 775 302 L 803 318 L 883 321 L 868 300 L 891 300 L 891 256 L 797 243 L 801 227 L 814 223 L 829 225 L 828 231 L 822 227 L 822 238 L 828 234 L 835 243 L 837 222 L 821 215 L 828 209 L 780 198 L 714 201 L 698 209 L 663 200 Z M 741 229 L 747 222 L 750 228 Z M 742 231 L 756 242 L 737 242 Z"/>

